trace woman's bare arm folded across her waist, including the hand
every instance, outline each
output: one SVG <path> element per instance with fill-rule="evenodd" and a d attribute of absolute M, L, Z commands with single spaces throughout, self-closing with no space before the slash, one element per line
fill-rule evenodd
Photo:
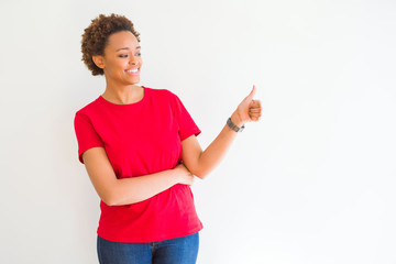
<path fill-rule="evenodd" d="M 108 206 L 135 204 L 176 184 L 193 185 L 194 182 L 194 175 L 184 165 L 155 174 L 118 179 L 103 147 L 87 150 L 82 160 L 96 191 Z"/>

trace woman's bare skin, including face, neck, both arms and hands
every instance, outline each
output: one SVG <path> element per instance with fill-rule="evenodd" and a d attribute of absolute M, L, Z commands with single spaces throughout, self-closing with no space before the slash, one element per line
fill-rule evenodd
<path fill-rule="evenodd" d="M 92 56 L 95 64 L 102 68 L 106 76 L 106 90 L 102 97 L 113 103 L 125 105 L 140 101 L 144 89 L 138 86 L 142 57 L 136 37 L 129 31 L 109 36 L 105 55 Z M 129 69 L 139 69 L 132 75 Z M 231 114 L 238 127 L 258 121 L 262 108 L 254 100 L 255 86 L 248 97 Z M 121 206 L 148 199 L 176 184 L 193 185 L 195 176 L 204 179 L 226 155 L 237 132 L 227 124 L 212 143 L 202 151 L 195 135 L 182 142 L 183 164 L 173 169 L 141 177 L 118 179 L 103 147 L 92 147 L 82 154 L 86 169 L 99 197 L 109 206 Z"/>

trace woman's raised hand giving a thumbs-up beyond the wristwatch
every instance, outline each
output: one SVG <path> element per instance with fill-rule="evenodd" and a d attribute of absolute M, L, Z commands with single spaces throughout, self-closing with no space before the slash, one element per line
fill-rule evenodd
<path fill-rule="evenodd" d="M 232 113 L 231 120 L 238 127 L 242 127 L 245 122 L 256 122 L 260 120 L 262 108 L 260 100 L 254 100 L 256 88 L 253 85 L 251 94 L 245 97 Z"/>

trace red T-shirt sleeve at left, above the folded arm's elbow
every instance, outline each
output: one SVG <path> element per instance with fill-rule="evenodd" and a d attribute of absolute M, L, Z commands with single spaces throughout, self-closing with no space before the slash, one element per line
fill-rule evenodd
<path fill-rule="evenodd" d="M 85 151 L 96 146 L 103 147 L 105 144 L 86 114 L 77 112 L 74 125 L 78 142 L 78 160 L 84 164 L 82 153 Z"/>

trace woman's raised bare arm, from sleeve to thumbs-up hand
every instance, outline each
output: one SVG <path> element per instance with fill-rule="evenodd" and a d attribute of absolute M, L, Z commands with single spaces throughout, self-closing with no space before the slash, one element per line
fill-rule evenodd
<path fill-rule="evenodd" d="M 242 127 L 246 122 L 256 122 L 261 117 L 261 102 L 253 100 L 255 86 L 251 94 L 242 100 L 237 110 L 231 116 L 231 121 Z M 197 177 L 205 178 L 221 161 L 229 146 L 234 140 L 237 132 L 224 125 L 219 135 L 202 151 L 195 135 L 191 135 L 182 142 L 183 163 Z"/>

